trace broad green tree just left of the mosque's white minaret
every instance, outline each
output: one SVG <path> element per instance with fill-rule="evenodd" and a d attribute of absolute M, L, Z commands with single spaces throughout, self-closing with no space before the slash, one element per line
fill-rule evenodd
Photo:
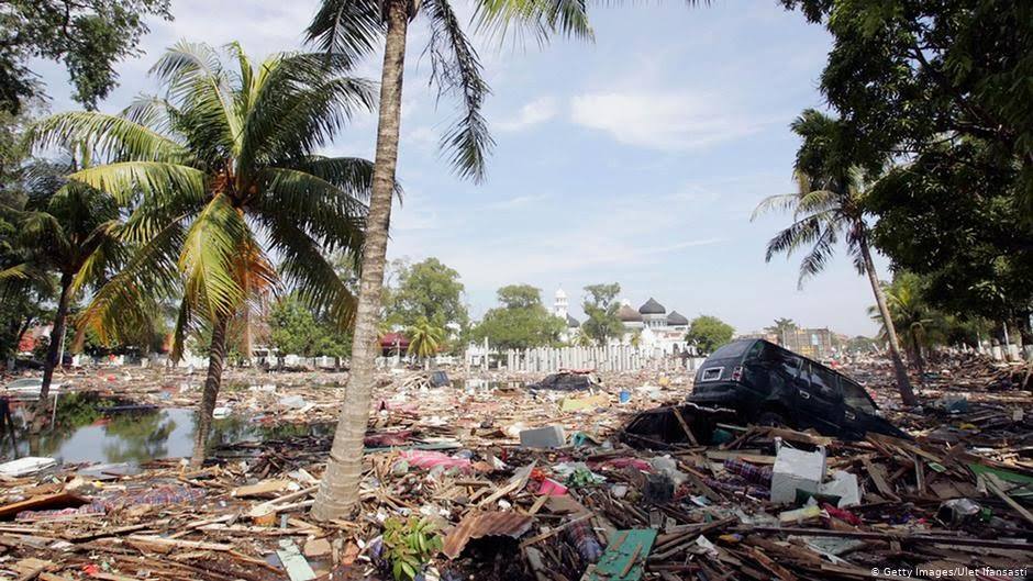
<path fill-rule="evenodd" d="M 531 284 L 509 284 L 498 291 L 500 306 L 485 313 L 474 328 L 474 340 L 485 338 L 500 349 L 526 349 L 555 345 L 566 322 L 542 304 L 541 290 Z"/>

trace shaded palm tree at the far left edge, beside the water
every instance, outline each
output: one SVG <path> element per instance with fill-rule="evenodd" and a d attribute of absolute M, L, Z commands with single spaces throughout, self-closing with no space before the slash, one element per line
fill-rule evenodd
<path fill-rule="evenodd" d="M 57 276 L 57 308 L 40 388 L 40 401 L 44 403 L 54 368 L 60 364 L 68 310 L 76 295 L 112 273 L 125 255 L 124 246 L 113 234 L 120 217 L 115 199 L 63 178 L 89 164 L 88 148 L 77 147 L 76 152 L 78 158 L 35 163 L 26 175 L 25 209 L 4 209 L 18 225 L 22 250 L 20 262 L 0 271 L 5 291 L 16 291 L 15 288 L 26 291 L 24 287 L 30 281 L 53 288 L 52 273 Z"/>

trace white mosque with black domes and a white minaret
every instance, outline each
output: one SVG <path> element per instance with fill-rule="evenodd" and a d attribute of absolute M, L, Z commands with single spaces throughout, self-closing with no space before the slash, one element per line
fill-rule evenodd
<path fill-rule="evenodd" d="M 553 314 L 567 322 L 567 329 L 560 337 L 570 340 L 577 335 L 580 323 L 567 311 L 567 293 L 557 289 L 553 302 Z M 621 300 L 618 316 L 624 325 L 624 335 L 612 339 L 615 345 L 634 345 L 644 351 L 662 355 L 680 354 L 682 349 L 692 353 L 695 348 L 686 344 L 685 334 L 689 331 L 689 320 L 677 311 L 667 312 L 656 299 L 649 298 L 636 311 L 627 299 Z"/>

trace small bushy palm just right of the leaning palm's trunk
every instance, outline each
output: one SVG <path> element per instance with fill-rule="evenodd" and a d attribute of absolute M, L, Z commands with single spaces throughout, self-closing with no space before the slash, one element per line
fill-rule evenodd
<path fill-rule="evenodd" d="M 925 373 L 922 349 L 942 335 L 945 326 L 944 317 L 925 302 L 922 281 L 913 272 L 897 272 L 891 283 L 882 286 L 882 293 L 886 295 L 886 305 L 893 321 L 893 327 L 898 329 L 900 338 L 908 346 L 908 356 L 921 379 Z M 869 306 L 868 314 L 873 321 L 881 325 L 882 317 L 878 306 Z M 881 340 L 888 338 L 885 326 L 881 328 L 879 338 Z"/>

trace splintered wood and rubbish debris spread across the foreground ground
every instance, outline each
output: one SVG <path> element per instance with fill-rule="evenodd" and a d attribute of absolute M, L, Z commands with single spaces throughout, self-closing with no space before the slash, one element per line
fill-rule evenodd
<path fill-rule="evenodd" d="M 0 574 L 1025 578 L 1033 395 L 946 376 L 923 409 L 887 412 L 913 438 L 851 442 L 724 418 L 702 438 L 688 387 L 664 380 L 384 386 L 352 521 L 308 514 L 331 436 L 222 446 L 199 470 L 15 460 L 0 465 Z"/>

